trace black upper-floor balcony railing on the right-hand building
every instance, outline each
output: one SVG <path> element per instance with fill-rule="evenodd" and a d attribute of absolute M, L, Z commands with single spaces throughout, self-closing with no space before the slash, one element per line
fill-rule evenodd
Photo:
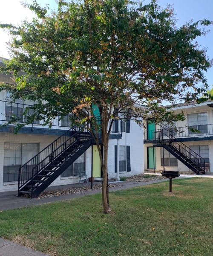
<path fill-rule="evenodd" d="M 158 130 L 145 130 L 144 131 L 144 141 L 153 140 L 153 132 L 160 132 L 162 129 Z M 195 125 L 191 127 L 178 127 L 178 128 L 167 128 L 163 129 L 167 136 L 173 136 L 176 138 L 186 138 L 186 137 L 210 137 L 213 136 L 213 124 L 209 125 Z"/>

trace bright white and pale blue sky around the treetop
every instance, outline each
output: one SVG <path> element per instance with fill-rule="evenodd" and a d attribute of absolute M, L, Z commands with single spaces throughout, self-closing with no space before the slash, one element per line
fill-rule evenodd
<path fill-rule="evenodd" d="M 33 0 L 22 0 L 22 2 L 32 3 Z M 37 0 L 41 6 L 49 4 L 50 9 L 57 9 L 57 0 Z M 144 0 L 144 3 L 149 3 L 149 0 Z M 182 26 L 189 20 L 197 21 L 204 18 L 213 20 L 213 0 L 158 0 L 158 5 L 166 7 L 173 5 L 174 13 L 176 14 L 177 26 Z M 1 0 L 0 1 L 0 23 L 11 23 L 13 25 L 21 24 L 21 20 L 32 20 L 32 12 L 24 8 L 20 0 Z M 210 32 L 197 41 L 201 49 L 207 49 L 207 56 L 213 59 L 213 25 L 208 26 Z M 0 56 L 10 58 L 7 52 L 6 42 L 9 41 L 9 36 L 3 29 L 0 29 Z M 213 85 L 213 67 L 205 73 L 210 89 Z"/>

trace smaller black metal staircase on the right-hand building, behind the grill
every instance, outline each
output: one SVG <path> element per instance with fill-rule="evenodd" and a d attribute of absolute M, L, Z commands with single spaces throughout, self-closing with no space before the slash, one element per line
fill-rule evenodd
<path fill-rule="evenodd" d="M 168 131 L 168 135 L 163 132 L 163 129 L 153 132 L 153 146 L 165 148 L 196 174 L 205 174 L 204 158 L 181 143 L 172 135 L 172 132 Z"/>

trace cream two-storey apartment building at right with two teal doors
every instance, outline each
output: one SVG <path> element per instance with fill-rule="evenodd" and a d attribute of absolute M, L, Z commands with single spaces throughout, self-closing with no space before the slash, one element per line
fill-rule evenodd
<path fill-rule="evenodd" d="M 144 169 L 213 172 L 213 102 L 191 102 L 173 109 L 185 120 L 173 125 L 147 121 L 144 129 Z"/>

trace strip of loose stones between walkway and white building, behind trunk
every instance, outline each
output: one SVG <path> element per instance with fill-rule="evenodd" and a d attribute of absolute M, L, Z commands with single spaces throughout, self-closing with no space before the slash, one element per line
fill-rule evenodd
<path fill-rule="evenodd" d="M 152 181 L 152 180 L 162 180 L 165 179 L 165 177 L 162 177 L 161 175 L 133 175 L 131 177 L 126 177 L 125 181 L 143 181 L 143 182 L 148 182 L 148 181 Z M 109 188 L 111 187 L 117 187 L 117 186 L 122 186 L 122 183 L 117 183 L 117 184 L 110 184 L 109 183 Z M 101 184 L 95 184 L 93 185 L 93 189 L 92 190 L 97 190 L 97 189 L 101 189 Z M 87 192 L 87 191 L 91 191 L 91 186 L 90 185 L 86 185 L 86 186 L 82 186 L 82 187 L 72 187 L 69 189 L 61 189 L 61 190 L 54 190 L 54 191 L 44 191 L 42 192 L 37 198 L 41 199 L 41 198 L 51 198 L 51 197 L 55 197 L 55 196 L 60 196 L 60 195 L 68 195 L 68 194 L 75 194 L 75 193 L 81 193 L 81 192 Z"/>

